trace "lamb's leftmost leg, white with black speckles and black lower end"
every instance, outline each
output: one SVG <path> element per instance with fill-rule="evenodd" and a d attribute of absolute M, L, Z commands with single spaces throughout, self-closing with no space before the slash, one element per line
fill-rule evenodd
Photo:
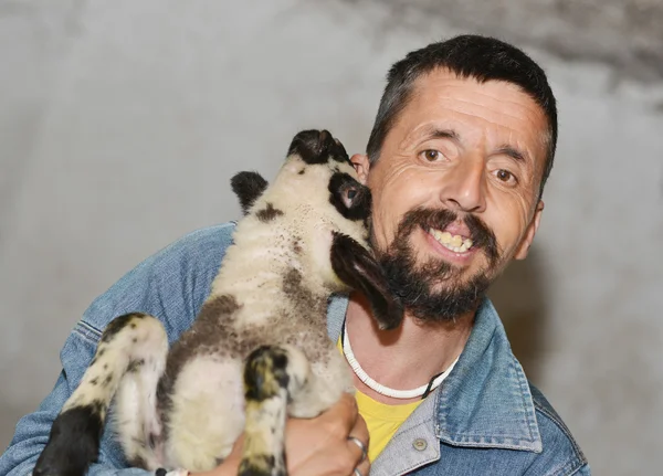
<path fill-rule="evenodd" d="M 34 476 L 83 476 L 98 456 L 99 440 L 110 401 L 127 369 L 146 359 L 143 349 L 161 340 L 160 322 L 144 314 L 113 319 L 95 356 L 53 422 Z M 166 343 L 167 345 L 167 343 Z"/>

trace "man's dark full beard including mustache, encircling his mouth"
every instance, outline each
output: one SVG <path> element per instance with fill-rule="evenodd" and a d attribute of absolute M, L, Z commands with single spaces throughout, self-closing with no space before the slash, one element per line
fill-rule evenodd
<path fill-rule="evenodd" d="M 477 216 L 465 215 L 463 222 L 470 230 L 472 247 L 483 251 L 488 260 L 486 269 L 470 281 L 453 284 L 455 268 L 442 260 L 431 258 L 417 265 L 417 253 L 409 237 L 417 228 L 444 230 L 457 215 L 450 210 L 415 209 L 408 212 L 393 242 L 387 251 L 376 251 L 385 271 L 391 293 L 398 296 L 403 306 L 418 319 L 429 322 L 455 320 L 474 309 L 485 295 L 492 279 L 491 274 L 499 263 L 499 250 L 495 234 Z M 373 239 L 371 228 L 371 239 Z M 375 239 L 373 239 L 375 243 Z M 446 281 L 442 290 L 433 290 L 435 283 Z"/>

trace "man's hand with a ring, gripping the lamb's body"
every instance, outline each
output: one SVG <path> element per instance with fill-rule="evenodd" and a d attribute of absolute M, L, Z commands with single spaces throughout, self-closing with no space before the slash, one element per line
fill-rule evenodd
<path fill-rule="evenodd" d="M 370 463 L 348 436 L 359 438 L 368 448 L 368 429 L 359 415 L 355 398 L 345 393 L 340 401 L 315 419 L 288 419 L 285 430 L 285 454 L 291 476 L 351 476 L 355 467 L 368 476 Z M 236 475 L 242 435 L 225 461 L 209 473 L 191 476 Z"/>

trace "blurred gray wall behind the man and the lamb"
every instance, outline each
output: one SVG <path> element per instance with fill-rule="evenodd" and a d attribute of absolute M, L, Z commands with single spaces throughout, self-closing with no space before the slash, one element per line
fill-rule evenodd
<path fill-rule="evenodd" d="M 364 151 L 388 66 L 429 41 L 517 42 L 558 96 L 533 254 L 492 290 L 516 355 L 594 474 L 663 466 L 663 6 L 0 2 L 0 446 L 92 299 L 182 234 L 236 218 L 301 128 Z"/>

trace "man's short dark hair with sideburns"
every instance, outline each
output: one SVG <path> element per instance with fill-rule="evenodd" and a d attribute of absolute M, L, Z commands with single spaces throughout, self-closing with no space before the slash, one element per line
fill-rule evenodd
<path fill-rule="evenodd" d="M 399 113 L 410 101 L 417 78 L 436 68 L 446 68 L 459 77 L 486 81 L 506 81 L 519 86 L 538 104 L 548 119 L 546 165 L 539 188 L 539 198 L 555 159 L 557 147 L 557 107 L 546 73 L 522 50 L 501 40 L 465 34 L 431 43 L 409 53 L 394 63 L 387 75 L 387 86 L 368 139 L 366 152 L 371 163 L 378 160 L 387 134 Z"/>

